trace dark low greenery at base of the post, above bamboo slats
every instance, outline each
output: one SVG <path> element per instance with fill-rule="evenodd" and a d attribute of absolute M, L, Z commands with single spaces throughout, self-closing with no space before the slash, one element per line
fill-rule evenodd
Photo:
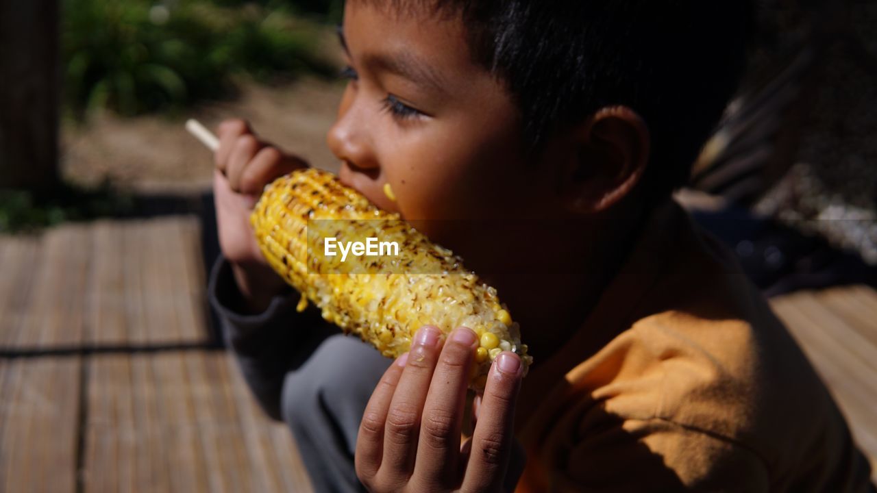
<path fill-rule="evenodd" d="M 105 181 L 82 188 L 61 183 L 50 192 L 0 189 L 0 232 L 32 231 L 66 221 L 124 216 L 134 211 L 132 196 Z"/>

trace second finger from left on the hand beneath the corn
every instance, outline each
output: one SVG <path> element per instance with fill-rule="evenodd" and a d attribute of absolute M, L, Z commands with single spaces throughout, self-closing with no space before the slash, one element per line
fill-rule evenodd
<path fill-rule="evenodd" d="M 432 371 L 439 359 L 441 337 L 441 331 L 431 325 L 424 325 L 414 336 L 384 430 L 381 475 L 389 478 L 389 482 L 405 482 L 413 473 L 420 420 Z"/>

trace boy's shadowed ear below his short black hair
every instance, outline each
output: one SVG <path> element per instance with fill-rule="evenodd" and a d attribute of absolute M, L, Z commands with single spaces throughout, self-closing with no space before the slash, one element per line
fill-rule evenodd
<path fill-rule="evenodd" d="M 596 111 L 573 129 L 577 149 L 560 185 L 570 211 L 605 211 L 631 193 L 649 161 L 649 130 L 626 106 Z"/>

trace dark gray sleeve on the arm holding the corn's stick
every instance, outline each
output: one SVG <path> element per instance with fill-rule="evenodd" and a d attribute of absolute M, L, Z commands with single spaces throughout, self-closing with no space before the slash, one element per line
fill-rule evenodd
<path fill-rule="evenodd" d="M 289 289 L 275 297 L 267 310 L 244 315 L 237 310 L 241 296 L 232 268 L 219 257 L 210 273 L 210 304 L 219 315 L 225 342 L 232 349 L 246 383 L 268 416 L 282 418 L 283 381 L 300 368 L 327 337 L 339 334 L 311 307 L 296 312 L 298 294 Z"/>

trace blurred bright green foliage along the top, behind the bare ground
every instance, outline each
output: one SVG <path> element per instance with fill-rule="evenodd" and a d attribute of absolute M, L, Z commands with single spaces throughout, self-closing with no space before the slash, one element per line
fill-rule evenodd
<path fill-rule="evenodd" d="M 321 18 L 332 16 L 334 2 Z M 259 82 L 304 72 L 334 74 L 316 54 L 322 28 L 277 0 L 64 0 L 61 46 L 65 106 L 84 118 L 110 109 L 125 116 L 179 111 L 231 96 L 236 76 Z"/>

